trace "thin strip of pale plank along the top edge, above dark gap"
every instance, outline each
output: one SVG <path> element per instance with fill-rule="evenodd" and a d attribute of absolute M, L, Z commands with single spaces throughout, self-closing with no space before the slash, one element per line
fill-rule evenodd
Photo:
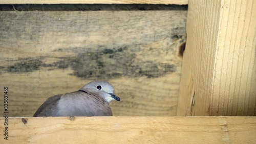
<path fill-rule="evenodd" d="M 165 4 L 187 5 L 188 0 L 3 0 L 0 4 Z"/>

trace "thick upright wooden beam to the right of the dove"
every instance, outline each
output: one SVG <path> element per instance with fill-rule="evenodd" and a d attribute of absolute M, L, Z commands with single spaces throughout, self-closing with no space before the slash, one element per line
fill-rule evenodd
<path fill-rule="evenodd" d="M 256 1 L 189 1 L 177 115 L 256 115 Z"/>

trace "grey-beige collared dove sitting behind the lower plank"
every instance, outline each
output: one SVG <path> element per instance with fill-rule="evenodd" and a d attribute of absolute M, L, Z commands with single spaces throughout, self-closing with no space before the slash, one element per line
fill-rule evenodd
<path fill-rule="evenodd" d="M 120 101 L 106 81 L 92 81 L 80 90 L 49 97 L 33 116 L 112 116 L 109 103 Z"/>

